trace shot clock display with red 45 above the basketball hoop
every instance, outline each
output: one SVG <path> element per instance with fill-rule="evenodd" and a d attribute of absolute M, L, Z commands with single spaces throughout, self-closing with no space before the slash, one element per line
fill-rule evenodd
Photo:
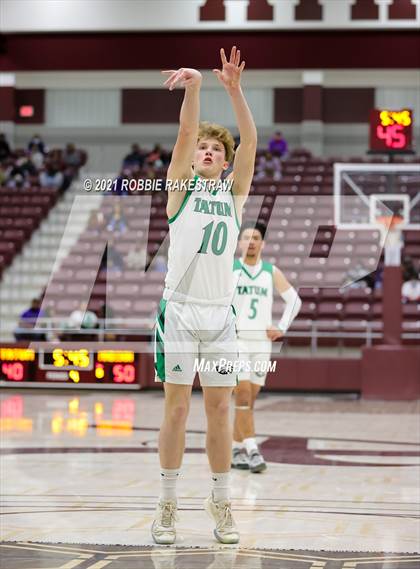
<path fill-rule="evenodd" d="M 403 152 L 411 150 L 413 112 L 375 109 L 370 115 L 370 150 Z"/>

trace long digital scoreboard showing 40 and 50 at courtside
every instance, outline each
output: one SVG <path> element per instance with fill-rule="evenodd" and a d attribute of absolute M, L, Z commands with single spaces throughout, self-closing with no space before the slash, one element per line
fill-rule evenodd
<path fill-rule="evenodd" d="M 139 355 L 84 347 L 35 351 L 0 346 L 0 381 L 139 386 Z"/>

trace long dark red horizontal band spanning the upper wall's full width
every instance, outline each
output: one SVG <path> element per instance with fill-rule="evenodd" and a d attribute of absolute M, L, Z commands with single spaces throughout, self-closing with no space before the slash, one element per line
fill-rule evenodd
<path fill-rule="evenodd" d="M 9 34 L 4 71 L 213 69 L 236 44 L 248 69 L 420 67 L 415 31 Z M 390 47 L 391 46 L 391 47 Z"/>

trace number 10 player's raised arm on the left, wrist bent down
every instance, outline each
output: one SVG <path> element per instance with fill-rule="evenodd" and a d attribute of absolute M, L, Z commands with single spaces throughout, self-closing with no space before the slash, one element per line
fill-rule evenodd
<path fill-rule="evenodd" d="M 197 145 L 200 120 L 200 87 L 202 76 L 196 69 L 182 67 L 178 70 L 162 71 L 169 75 L 164 85 L 172 91 L 180 83 L 185 88 L 184 100 L 179 114 L 179 129 L 168 168 L 168 180 L 185 180 L 193 177 L 192 162 Z M 169 191 L 167 214 L 175 215 L 181 206 L 185 191 Z"/>

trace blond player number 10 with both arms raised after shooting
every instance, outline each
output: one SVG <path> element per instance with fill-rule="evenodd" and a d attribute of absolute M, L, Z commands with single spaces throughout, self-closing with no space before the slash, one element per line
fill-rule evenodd
<path fill-rule="evenodd" d="M 205 509 L 214 519 L 221 543 L 237 543 L 229 496 L 232 427 L 229 407 L 237 375 L 235 317 L 231 306 L 232 265 L 243 204 L 254 172 L 257 132 L 240 79 L 245 66 L 232 48 L 230 59 L 221 50 L 222 70 L 215 69 L 226 89 L 237 121 L 240 144 L 231 191 L 213 188 L 234 156 L 230 132 L 219 125 L 199 124 L 202 77 L 195 69 L 165 71 L 165 85 L 185 88 L 178 138 L 168 169 L 170 246 L 165 291 L 156 319 L 156 380 L 164 381 L 165 415 L 159 436 L 161 491 L 152 536 L 156 543 L 176 539 L 176 482 L 185 446 L 185 423 L 191 389 L 199 369 L 207 416 L 206 450 L 212 472 L 212 492 Z M 185 182 L 191 186 L 185 188 Z M 208 185 L 202 189 L 203 183 Z M 222 363 L 222 360 L 226 361 Z"/>

